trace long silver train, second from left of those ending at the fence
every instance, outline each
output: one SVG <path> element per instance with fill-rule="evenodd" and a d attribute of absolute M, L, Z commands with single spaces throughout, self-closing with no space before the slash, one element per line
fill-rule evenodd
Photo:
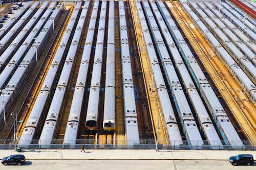
<path fill-rule="evenodd" d="M 71 41 L 65 64 L 62 67 L 59 81 L 46 117 L 46 122 L 39 138 L 40 144 L 51 144 L 51 140 L 56 137 L 56 127 L 58 127 L 58 123 L 62 115 L 63 104 L 66 98 L 66 90 L 70 84 L 70 74 L 73 70 L 73 62 L 76 60 L 76 56 L 78 53 L 78 46 L 80 44 L 81 34 L 84 28 L 84 22 L 86 21 L 88 6 L 89 3 L 84 4 L 80 17 L 78 19 L 78 23 Z M 79 11 L 80 7 L 81 3 L 78 2 L 75 7 L 76 11 Z M 49 124 L 51 124 L 51 126 L 49 126 Z"/>

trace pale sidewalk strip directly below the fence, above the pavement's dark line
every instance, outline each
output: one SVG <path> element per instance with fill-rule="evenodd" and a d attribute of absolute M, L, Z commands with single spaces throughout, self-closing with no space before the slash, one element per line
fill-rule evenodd
<path fill-rule="evenodd" d="M 200 151 L 200 150 L 0 150 L 0 159 L 12 154 L 23 154 L 26 159 L 119 159 L 119 160 L 228 160 L 238 154 L 252 154 L 256 151 Z"/>

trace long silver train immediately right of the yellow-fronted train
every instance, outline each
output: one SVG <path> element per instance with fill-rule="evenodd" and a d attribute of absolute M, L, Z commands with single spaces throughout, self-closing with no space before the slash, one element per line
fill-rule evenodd
<path fill-rule="evenodd" d="M 123 85 L 123 107 L 125 122 L 125 137 L 127 146 L 140 143 L 137 110 L 134 93 L 133 72 L 131 65 L 131 55 L 129 39 L 127 34 L 125 7 L 123 0 L 119 5 L 119 28 L 121 44 L 121 64 L 122 64 L 122 85 Z"/>

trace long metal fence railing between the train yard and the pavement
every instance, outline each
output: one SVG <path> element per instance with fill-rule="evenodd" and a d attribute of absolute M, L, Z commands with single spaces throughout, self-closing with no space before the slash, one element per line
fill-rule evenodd
<path fill-rule="evenodd" d="M 108 142 L 108 143 L 107 143 Z M 138 142 L 136 140 L 136 142 Z M 139 140 L 138 143 L 134 141 L 127 142 L 126 140 L 100 140 L 98 139 L 96 144 L 93 139 L 77 139 L 76 144 L 63 143 L 63 140 L 54 139 L 51 140 L 51 144 L 44 143 L 40 140 L 28 140 L 23 141 L 22 145 L 18 145 L 16 141 L 16 147 L 22 149 L 80 149 L 81 145 L 87 149 L 156 149 L 158 150 L 250 150 L 256 151 L 256 146 L 251 145 L 250 141 L 242 141 L 242 144 L 238 141 L 232 141 L 234 144 L 225 144 L 224 141 L 215 142 L 204 140 L 203 143 L 200 141 L 171 141 L 172 143 L 166 143 L 166 141 L 159 140 L 158 143 L 155 140 Z M 25 144 L 24 144 L 25 143 Z M 27 143 L 27 144 L 26 144 Z M 132 144 L 126 144 L 132 143 Z M 197 143 L 197 144 L 191 144 Z M 210 144 L 215 143 L 215 144 Z M 0 140 L 0 149 L 14 149 L 14 140 Z"/>

